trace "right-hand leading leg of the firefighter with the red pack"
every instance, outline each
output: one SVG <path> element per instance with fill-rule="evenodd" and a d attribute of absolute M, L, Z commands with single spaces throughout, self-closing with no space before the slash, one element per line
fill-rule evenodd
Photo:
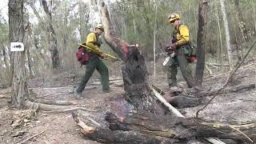
<path fill-rule="evenodd" d="M 102 90 L 110 90 L 109 70 L 101 59 L 98 60 L 96 70 L 101 74 Z"/>

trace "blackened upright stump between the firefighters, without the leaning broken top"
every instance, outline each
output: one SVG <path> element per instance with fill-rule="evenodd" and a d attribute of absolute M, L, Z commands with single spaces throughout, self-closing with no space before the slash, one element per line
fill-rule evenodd
<path fill-rule="evenodd" d="M 148 83 L 146 62 L 137 47 L 129 47 L 126 62 L 122 65 L 125 98 L 137 110 L 163 114 L 162 105 L 154 97 Z"/>

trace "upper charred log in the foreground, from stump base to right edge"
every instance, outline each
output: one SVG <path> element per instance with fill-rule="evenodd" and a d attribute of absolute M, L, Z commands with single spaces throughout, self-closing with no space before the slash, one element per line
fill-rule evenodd
<path fill-rule="evenodd" d="M 238 142 L 254 142 L 256 140 L 256 122 L 234 123 L 202 122 L 194 118 L 178 118 L 170 115 L 155 115 L 134 111 L 126 118 L 118 118 L 114 114 L 106 114 L 106 121 L 111 130 L 135 130 L 142 134 L 152 134 L 178 140 L 190 138 L 216 137 L 233 139 Z"/>

